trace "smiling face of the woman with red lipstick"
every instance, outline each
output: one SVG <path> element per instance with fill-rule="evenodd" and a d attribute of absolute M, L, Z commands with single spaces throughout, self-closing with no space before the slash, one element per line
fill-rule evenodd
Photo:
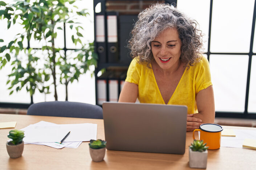
<path fill-rule="evenodd" d="M 163 71 L 175 71 L 180 64 L 181 40 L 178 31 L 166 29 L 151 42 L 151 50 L 156 63 Z"/>

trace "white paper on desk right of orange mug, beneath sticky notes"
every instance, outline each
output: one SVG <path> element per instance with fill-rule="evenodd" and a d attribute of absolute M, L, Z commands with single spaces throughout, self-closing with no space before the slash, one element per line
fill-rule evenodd
<path fill-rule="evenodd" d="M 232 147 L 232 148 L 243 148 L 243 142 L 246 138 L 256 139 L 256 131 L 254 130 L 242 130 L 233 129 L 236 136 L 222 136 L 220 146 L 221 147 Z"/>

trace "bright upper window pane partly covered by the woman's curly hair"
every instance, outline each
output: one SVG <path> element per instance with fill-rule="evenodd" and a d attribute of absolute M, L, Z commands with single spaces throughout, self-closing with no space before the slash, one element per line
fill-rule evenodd
<path fill-rule="evenodd" d="M 177 8 L 184 12 L 188 17 L 195 19 L 199 23 L 199 29 L 202 30 L 204 34 L 204 52 L 207 52 L 210 18 L 210 0 L 178 0 Z"/>

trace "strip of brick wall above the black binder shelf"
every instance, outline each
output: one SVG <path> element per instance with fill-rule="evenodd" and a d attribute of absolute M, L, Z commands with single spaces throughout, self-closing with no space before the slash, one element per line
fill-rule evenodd
<path fill-rule="evenodd" d="M 164 0 L 151 0 L 151 1 L 106 1 L 106 11 L 119 12 L 119 15 L 132 14 L 137 15 L 143 9 L 148 8 L 155 3 L 165 3 Z"/>

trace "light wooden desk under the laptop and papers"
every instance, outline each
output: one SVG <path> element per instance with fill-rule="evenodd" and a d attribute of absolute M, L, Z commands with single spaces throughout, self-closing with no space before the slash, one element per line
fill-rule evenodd
<path fill-rule="evenodd" d="M 41 120 L 57 124 L 96 123 L 98 124 L 97 138 L 105 139 L 103 120 L 99 119 L 0 114 L 0 122 L 17 121 L 16 129 L 27 127 L 29 124 L 34 124 Z M 225 128 L 256 130 L 256 128 L 248 127 L 225 126 Z M 0 170 L 190 169 L 188 165 L 188 146 L 193 141 L 192 132 L 187 132 L 186 152 L 184 155 L 107 150 L 104 161 L 96 163 L 90 157 L 88 142 L 83 142 L 77 149 L 55 149 L 43 145 L 26 144 L 20 158 L 9 158 L 5 143 L 8 140 L 7 134 L 10 130 L 0 129 Z M 255 170 L 256 150 L 225 147 L 217 150 L 208 150 L 207 169 Z"/>

